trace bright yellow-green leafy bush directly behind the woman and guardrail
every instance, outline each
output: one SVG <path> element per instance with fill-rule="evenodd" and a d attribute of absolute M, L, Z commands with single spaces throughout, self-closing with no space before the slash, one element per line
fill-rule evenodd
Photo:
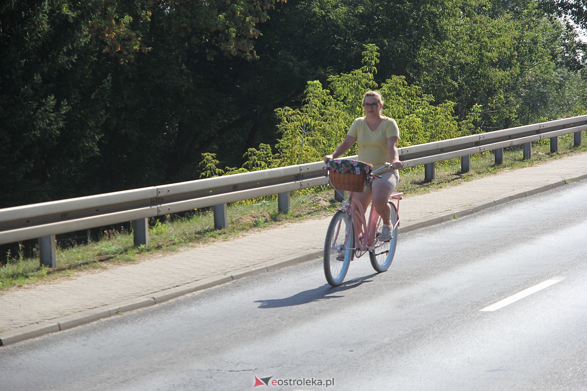
<path fill-rule="evenodd" d="M 363 115 L 362 97 L 367 90 L 378 89 L 382 93 L 383 114 L 395 118 L 399 125 L 400 147 L 477 131 L 479 106 L 473 106 L 459 121 L 453 102 L 434 104 L 433 96 L 409 85 L 404 76 L 392 76 L 379 86 L 374 81 L 378 50 L 375 45 L 365 45 L 363 66 L 329 77 L 329 89 L 323 89 L 319 81 L 309 82 L 301 108 L 276 110 L 282 134 L 276 144 L 279 165 L 318 161 L 332 153 L 345 138 L 353 119 Z M 355 154 L 355 149 L 349 154 Z"/>

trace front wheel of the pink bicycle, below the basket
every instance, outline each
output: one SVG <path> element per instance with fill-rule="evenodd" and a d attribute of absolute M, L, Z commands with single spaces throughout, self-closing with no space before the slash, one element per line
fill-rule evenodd
<path fill-rule="evenodd" d="M 324 242 L 324 274 L 326 281 L 333 287 L 342 283 L 349 270 L 354 254 L 355 237 L 353 235 L 353 225 L 349 214 L 336 212 L 330 220 Z"/>

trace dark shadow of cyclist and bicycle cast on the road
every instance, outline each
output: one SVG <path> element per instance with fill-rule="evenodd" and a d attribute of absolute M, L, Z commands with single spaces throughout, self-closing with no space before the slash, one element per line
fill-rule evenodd
<path fill-rule="evenodd" d="M 343 295 L 336 295 L 336 293 L 359 287 L 359 285 L 362 285 L 364 283 L 370 283 L 373 280 L 370 280 L 369 278 L 375 276 L 376 274 L 377 273 L 373 273 L 369 276 L 353 278 L 352 280 L 345 281 L 338 287 L 331 287 L 328 284 L 324 284 L 321 287 L 296 293 L 295 295 L 290 297 L 285 297 L 282 299 L 257 300 L 255 302 L 261 303 L 259 304 L 259 308 L 279 308 L 288 307 L 290 305 L 307 304 L 312 301 L 328 300 L 343 297 Z"/>

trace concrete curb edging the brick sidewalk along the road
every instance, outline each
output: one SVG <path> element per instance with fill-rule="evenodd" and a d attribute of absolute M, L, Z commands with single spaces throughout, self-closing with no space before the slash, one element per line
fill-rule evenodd
<path fill-rule="evenodd" d="M 587 174 L 579 175 L 571 179 L 563 179 L 562 181 L 549 183 L 548 185 L 540 186 L 529 191 L 516 193 L 515 195 L 505 196 L 503 198 L 496 199 L 491 202 L 474 206 L 473 208 L 458 210 L 457 212 L 450 212 L 446 215 L 421 220 L 419 222 L 411 222 L 406 226 L 400 226 L 399 232 L 406 233 L 416 229 L 430 227 L 440 223 L 448 222 L 450 220 L 454 220 L 455 217 L 473 215 L 473 213 L 477 213 L 481 210 L 501 205 L 502 203 L 510 202 L 515 199 L 525 198 L 531 195 L 535 195 L 541 192 L 545 192 L 551 189 L 564 186 L 571 182 L 581 181 L 583 179 L 587 179 Z M 321 255 L 322 249 L 309 249 L 301 253 L 294 254 L 292 256 L 281 257 L 275 260 L 266 261 L 255 266 L 235 270 L 223 276 L 204 278 L 203 280 L 194 281 L 193 283 L 180 285 L 174 288 L 168 288 L 166 290 L 158 291 L 150 295 L 144 295 L 142 297 L 120 301 L 114 304 L 105 305 L 103 307 L 80 311 L 75 314 L 66 315 L 64 317 L 49 319 L 46 322 L 41 322 L 38 324 L 12 329 L 10 331 L 0 333 L 0 346 L 16 344 L 17 342 L 22 342 L 26 339 L 37 338 L 38 336 L 51 334 L 53 332 L 63 331 L 77 326 L 89 324 L 100 319 L 123 314 L 124 312 L 139 310 L 140 308 L 151 307 L 155 304 L 160 304 L 161 302 L 172 300 L 174 298 L 195 293 L 197 291 L 205 290 L 211 287 L 216 287 L 218 285 L 230 283 L 231 281 L 239 280 L 240 278 L 257 276 L 258 274 L 268 273 L 271 271 L 279 270 L 281 268 L 294 266 L 296 264 L 315 260 Z"/>

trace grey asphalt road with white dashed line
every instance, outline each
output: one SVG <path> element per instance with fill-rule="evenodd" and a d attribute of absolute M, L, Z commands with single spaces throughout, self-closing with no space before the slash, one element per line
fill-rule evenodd
<path fill-rule="evenodd" d="M 403 234 L 338 288 L 317 260 L 5 346 L 0 389 L 585 390 L 586 253 L 573 183 Z"/>

